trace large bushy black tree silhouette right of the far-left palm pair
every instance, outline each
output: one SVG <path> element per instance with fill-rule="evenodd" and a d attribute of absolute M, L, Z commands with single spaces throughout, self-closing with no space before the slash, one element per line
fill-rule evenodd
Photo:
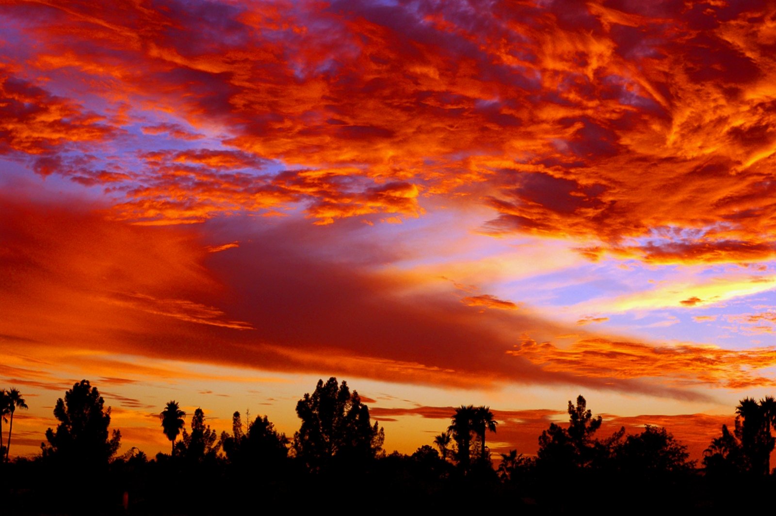
<path fill-rule="evenodd" d="M 85 468 L 107 466 L 119 449 L 121 432 L 113 430 L 109 437 L 110 407 L 88 380 L 75 383 L 54 407 L 54 417 L 60 423 L 57 430 L 49 428 L 42 445 L 43 456 L 60 459 Z"/>

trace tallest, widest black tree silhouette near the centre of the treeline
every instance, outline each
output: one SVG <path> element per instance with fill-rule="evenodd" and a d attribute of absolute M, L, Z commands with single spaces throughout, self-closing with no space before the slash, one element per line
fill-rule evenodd
<path fill-rule="evenodd" d="M 305 393 L 296 403 L 296 414 L 302 424 L 294 434 L 293 450 L 310 470 L 332 462 L 362 466 L 383 448 L 383 428 L 370 424 L 369 407 L 334 377 L 326 383 L 318 380 L 314 393 Z"/>

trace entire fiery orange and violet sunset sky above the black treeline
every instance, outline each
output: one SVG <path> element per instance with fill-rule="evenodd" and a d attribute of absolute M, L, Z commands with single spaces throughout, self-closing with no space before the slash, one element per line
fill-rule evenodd
<path fill-rule="evenodd" d="M 0 4 L 11 455 L 80 379 L 148 455 L 330 376 L 405 453 L 773 394 L 773 2 Z"/>

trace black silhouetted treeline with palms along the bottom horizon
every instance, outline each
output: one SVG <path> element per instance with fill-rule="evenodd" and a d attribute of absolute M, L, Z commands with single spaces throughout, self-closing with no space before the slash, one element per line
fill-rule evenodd
<path fill-rule="evenodd" d="M 13 399 L 16 408 L 26 407 L 18 391 Z M 2 403 L 0 421 L 15 410 Z M 735 428 L 722 427 L 701 465 L 689 460 L 687 448 L 665 428 L 598 435 L 601 417 L 593 416 L 581 396 L 568 404 L 567 425 L 553 423 L 542 432 L 535 456 L 512 450 L 501 454 L 497 468 L 487 446 L 498 424 L 489 407 L 457 408 L 448 428 L 411 455 L 383 450 L 383 428 L 370 421 L 359 394 L 337 379 L 320 380 L 298 401 L 296 414 L 301 424 L 290 438 L 266 416 L 243 418 L 239 412 L 231 431 L 217 435 L 203 410 L 185 414 L 171 400 L 158 416 L 169 453 L 149 458 L 131 448 L 116 456 L 121 434 L 109 428 L 110 408 L 97 388 L 82 380 L 57 400 L 59 424 L 47 430 L 40 456 L 2 464 L 3 511 L 222 514 L 244 504 L 255 504 L 256 511 L 280 504 L 354 511 L 492 504 L 528 514 L 595 506 L 639 514 L 667 503 L 695 510 L 740 508 L 776 487 L 770 469 L 776 444 L 772 398 L 742 400 Z M 4 445 L 0 452 L 8 456 Z M 747 497 L 740 496 L 742 490 Z"/>

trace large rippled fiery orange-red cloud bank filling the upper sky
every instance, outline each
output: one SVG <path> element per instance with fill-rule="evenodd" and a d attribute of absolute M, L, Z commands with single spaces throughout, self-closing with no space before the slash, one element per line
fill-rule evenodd
<path fill-rule="evenodd" d="M 147 135 L 218 135 L 232 147 L 157 149 L 167 161 L 144 174 L 85 175 L 87 185 L 130 186 L 122 218 L 195 223 L 302 202 L 318 223 L 394 220 L 422 215 L 423 192 L 483 199 L 496 212 L 488 230 L 572 238 L 589 258 L 776 255 L 765 237 L 776 67 L 770 29 L 751 21 L 769 19 L 769 5 L 496 2 L 466 15 L 424 3 L 5 7 L 36 41 L 19 50 L 25 59 L 9 57 L 25 74 L 3 82 L 6 153 L 120 145 L 117 128 L 135 122 Z M 109 108 L 90 114 L 33 77 Z M 149 122 L 129 103 L 178 122 Z M 36 167 L 50 174 L 58 156 L 44 158 Z M 218 172 L 270 160 L 350 171 L 317 189 Z"/>

